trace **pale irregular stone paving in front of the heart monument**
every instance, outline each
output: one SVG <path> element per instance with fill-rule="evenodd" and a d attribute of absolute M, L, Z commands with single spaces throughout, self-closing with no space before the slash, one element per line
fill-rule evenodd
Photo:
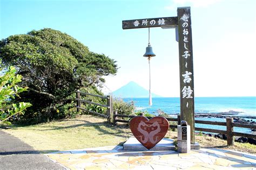
<path fill-rule="evenodd" d="M 231 150 L 201 148 L 176 151 L 125 151 L 107 146 L 46 154 L 69 169 L 253 169 L 256 155 Z"/>

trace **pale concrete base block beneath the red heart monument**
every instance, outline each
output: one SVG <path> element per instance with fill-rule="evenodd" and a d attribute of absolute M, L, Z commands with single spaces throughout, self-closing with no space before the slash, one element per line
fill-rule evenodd
<path fill-rule="evenodd" d="M 174 140 L 173 139 L 167 139 L 163 138 L 158 142 L 156 146 L 154 146 L 151 149 L 145 148 L 140 142 L 134 138 L 131 137 L 129 138 L 125 143 L 124 143 L 124 150 L 131 150 L 131 151 L 174 151 L 175 146 L 173 144 Z"/>

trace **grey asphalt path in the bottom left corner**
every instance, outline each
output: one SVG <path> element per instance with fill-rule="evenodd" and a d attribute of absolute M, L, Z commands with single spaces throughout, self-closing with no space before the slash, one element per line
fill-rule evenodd
<path fill-rule="evenodd" d="M 31 146 L 0 130 L 0 169 L 65 169 Z"/>

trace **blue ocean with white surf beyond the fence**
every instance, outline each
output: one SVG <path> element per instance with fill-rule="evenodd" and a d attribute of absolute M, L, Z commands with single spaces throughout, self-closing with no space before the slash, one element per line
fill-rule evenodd
<path fill-rule="evenodd" d="M 124 98 L 126 102 L 134 101 L 136 110 L 147 111 L 158 115 L 158 110 L 177 117 L 180 113 L 178 97 L 152 98 L 152 106 L 149 106 L 149 98 Z M 195 113 L 221 113 L 238 112 L 239 116 L 256 116 L 256 97 L 196 97 L 194 98 Z M 196 118 L 197 120 L 226 121 L 223 118 Z M 246 119 L 246 118 L 245 118 Z M 247 119 L 246 119 L 247 120 Z M 251 120 L 251 119 L 250 119 Z M 256 121 L 256 119 L 252 119 Z M 215 128 L 226 130 L 225 126 L 196 124 L 196 127 Z M 234 127 L 235 132 L 251 133 L 251 129 Z"/>

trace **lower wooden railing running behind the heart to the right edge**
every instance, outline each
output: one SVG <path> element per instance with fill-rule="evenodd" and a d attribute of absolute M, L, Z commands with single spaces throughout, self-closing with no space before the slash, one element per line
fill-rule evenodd
<path fill-rule="evenodd" d="M 122 119 L 117 119 L 117 118 L 133 118 L 133 117 L 136 117 L 136 115 L 123 115 L 123 114 L 117 114 L 117 112 L 114 112 L 113 123 L 114 124 L 116 124 L 117 122 L 129 123 L 129 120 L 122 120 Z M 147 117 L 147 118 L 151 119 L 152 117 Z M 178 118 L 166 118 L 166 119 L 169 121 L 177 121 L 177 124 L 180 125 L 180 120 L 181 120 L 180 115 L 178 115 Z M 226 126 L 226 131 L 215 130 L 215 129 L 211 129 L 211 128 L 201 128 L 201 127 L 196 127 L 195 130 L 201 131 L 201 132 L 226 134 L 227 145 L 234 145 L 234 136 L 256 139 L 256 134 L 234 132 L 234 127 L 256 129 L 256 125 L 234 123 L 233 118 L 226 118 L 226 122 L 195 120 L 195 123 L 206 124 L 206 125 Z M 177 126 L 170 125 L 170 128 L 177 128 Z"/>

